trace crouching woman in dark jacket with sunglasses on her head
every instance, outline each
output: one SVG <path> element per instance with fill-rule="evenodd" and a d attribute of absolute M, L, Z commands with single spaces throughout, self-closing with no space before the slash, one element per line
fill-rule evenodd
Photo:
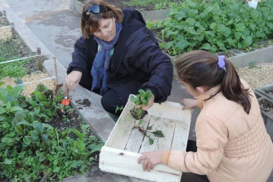
<path fill-rule="evenodd" d="M 103 1 L 89 0 L 83 7 L 83 36 L 76 41 L 67 69 L 69 89 L 78 84 L 102 95 L 103 108 L 115 113 L 139 89 L 153 93 L 153 102 L 167 100 L 172 87 L 173 66 L 161 51 L 140 12 L 120 10 Z"/>

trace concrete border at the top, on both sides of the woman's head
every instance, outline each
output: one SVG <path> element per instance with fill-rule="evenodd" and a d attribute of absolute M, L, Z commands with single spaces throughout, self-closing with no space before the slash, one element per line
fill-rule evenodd
<path fill-rule="evenodd" d="M 70 0 L 70 9 L 76 11 L 79 14 L 82 14 L 83 10 L 83 3 L 77 0 Z M 154 11 L 143 11 L 140 10 L 144 20 L 158 20 L 167 18 L 170 9 L 161 9 L 161 10 L 154 10 Z"/>

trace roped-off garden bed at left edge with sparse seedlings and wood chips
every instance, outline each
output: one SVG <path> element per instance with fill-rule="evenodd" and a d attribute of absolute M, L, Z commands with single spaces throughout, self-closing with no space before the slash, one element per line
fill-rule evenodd
<path fill-rule="evenodd" d="M 33 56 L 34 54 L 22 43 L 18 38 L 0 40 L 0 62 Z M 14 86 L 31 82 L 38 79 L 49 78 L 49 75 L 41 71 L 42 65 L 39 65 L 38 59 L 45 60 L 45 57 L 33 57 L 15 62 L 0 64 L 0 82 L 5 82 L 7 85 Z M 32 83 L 26 86 L 24 93 L 30 95 L 32 90 L 39 83 L 45 83 L 50 89 L 54 89 L 54 80 L 45 80 L 44 82 Z"/>

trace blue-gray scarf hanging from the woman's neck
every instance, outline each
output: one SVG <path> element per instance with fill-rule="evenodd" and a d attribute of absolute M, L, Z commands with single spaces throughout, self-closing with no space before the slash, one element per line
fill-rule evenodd
<path fill-rule="evenodd" d="M 94 39 L 101 46 L 101 49 L 98 50 L 91 69 L 91 75 L 93 77 L 91 91 L 99 88 L 99 95 L 103 95 L 107 90 L 109 90 L 107 81 L 109 78 L 108 68 L 110 63 L 110 50 L 113 49 L 115 43 L 119 39 L 121 29 L 122 25 L 116 22 L 116 35 L 110 42 L 106 42 L 94 36 Z"/>

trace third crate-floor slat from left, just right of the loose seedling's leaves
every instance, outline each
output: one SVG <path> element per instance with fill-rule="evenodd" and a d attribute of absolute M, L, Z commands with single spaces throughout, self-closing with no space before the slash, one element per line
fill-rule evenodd
<path fill-rule="evenodd" d="M 157 141 L 156 150 L 170 150 L 174 135 L 176 120 L 164 118 L 161 130 L 164 137 L 159 137 Z"/>

